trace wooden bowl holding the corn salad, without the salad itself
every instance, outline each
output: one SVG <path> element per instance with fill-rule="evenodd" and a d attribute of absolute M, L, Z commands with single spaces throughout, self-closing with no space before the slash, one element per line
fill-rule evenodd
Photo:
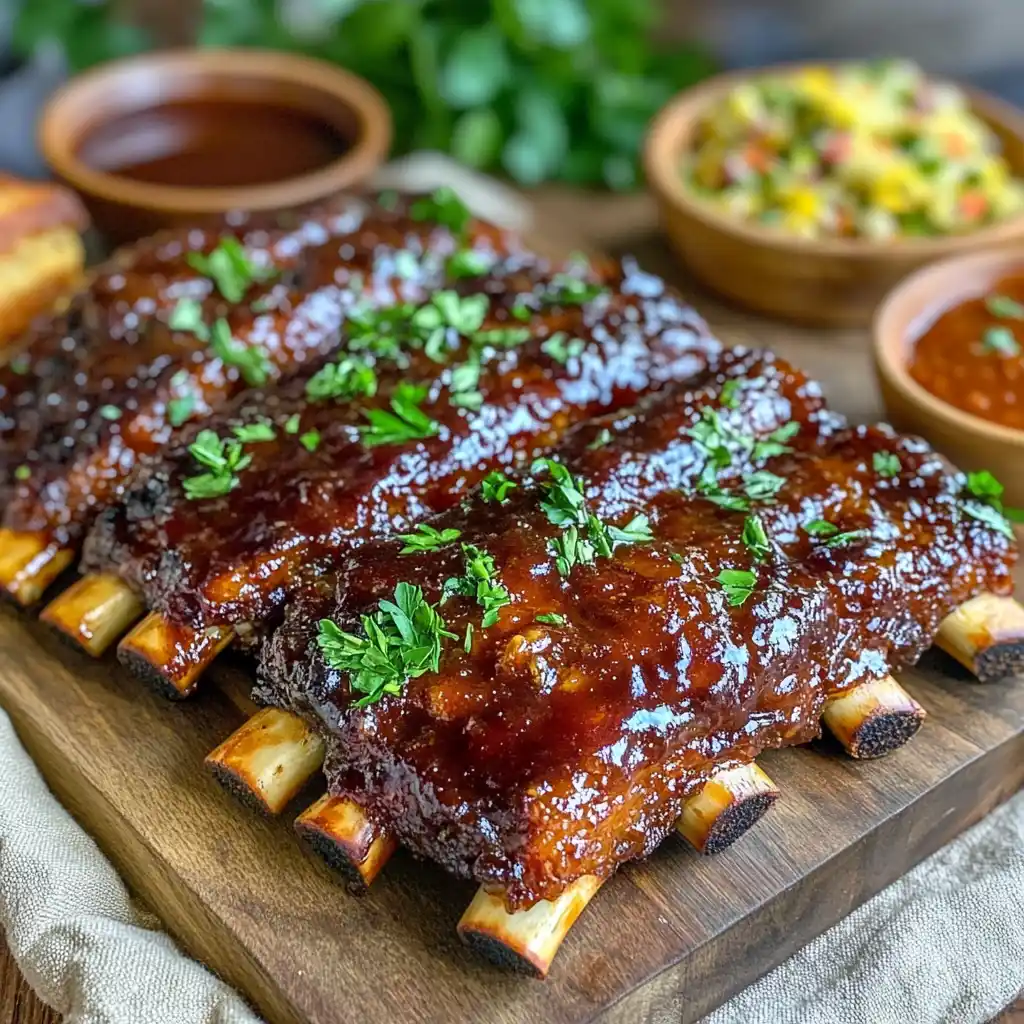
<path fill-rule="evenodd" d="M 939 239 L 888 243 L 797 239 L 729 217 L 702 202 L 680 171 L 700 115 L 739 82 L 800 67 L 709 79 L 673 99 L 651 124 L 644 154 L 647 180 L 673 248 L 703 284 L 772 315 L 812 324 L 861 325 L 870 321 L 886 293 L 919 266 L 1024 240 L 1024 215 Z M 1014 171 L 1024 177 L 1024 114 L 984 93 L 964 91 L 974 113 L 999 137 Z"/>

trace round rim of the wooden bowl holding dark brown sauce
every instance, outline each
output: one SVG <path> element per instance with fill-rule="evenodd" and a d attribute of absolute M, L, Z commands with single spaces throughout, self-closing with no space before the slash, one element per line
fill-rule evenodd
<path fill-rule="evenodd" d="M 319 92 L 354 117 L 351 147 L 308 174 L 269 184 L 191 188 L 148 184 L 97 171 L 79 159 L 76 148 L 83 124 L 80 112 L 140 72 L 175 80 L 200 72 L 230 78 L 244 75 L 267 83 L 289 83 Z M 242 48 L 177 49 L 126 57 L 72 79 L 47 102 L 39 124 L 46 162 L 79 191 L 118 206 L 169 214 L 212 214 L 229 210 L 287 209 L 315 202 L 368 177 L 385 160 L 391 145 L 391 112 L 384 97 L 365 79 L 311 57 Z"/>

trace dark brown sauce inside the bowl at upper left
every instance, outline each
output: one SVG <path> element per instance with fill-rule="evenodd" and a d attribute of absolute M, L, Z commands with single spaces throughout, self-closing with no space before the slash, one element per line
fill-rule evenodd
<path fill-rule="evenodd" d="M 85 135 L 79 158 L 150 184 L 237 188 L 310 174 L 349 148 L 339 126 L 307 111 L 201 99 L 105 121 Z"/>

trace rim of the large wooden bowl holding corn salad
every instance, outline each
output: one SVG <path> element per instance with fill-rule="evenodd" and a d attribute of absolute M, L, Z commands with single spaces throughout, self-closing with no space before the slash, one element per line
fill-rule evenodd
<path fill-rule="evenodd" d="M 768 65 L 756 69 L 726 72 L 678 93 L 654 116 L 644 141 L 643 163 L 647 181 L 660 199 L 686 216 L 700 221 L 706 227 L 734 241 L 780 254 L 842 257 L 849 260 L 896 261 L 908 258 L 939 259 L 965 249 L 997 245 L 1024 236 L 1024 212 L 963 234 L 945 234 L 934 239 L 901 239 L 895 242 L 874 242 L 865 239 L 802 239 L 782 231 L 760 227 L 738 217 L 720 212 L 702 202 L 684 183 L 679 172 L 679 155 L 689 139 L 700 113 L 714 100 L 736 85 L 767 75 L 793 74 L 809 68 L 835 68 L 849 60 L 804 60 Z M 1024 112 L 987 92 L 952 79 L 937 77 L 964 92 L 971 110 L 984 121 L 998 124 L 1008 134 L 1024 142 Z M 1024 177 L 1024 165 L 1013 168 Z"/>

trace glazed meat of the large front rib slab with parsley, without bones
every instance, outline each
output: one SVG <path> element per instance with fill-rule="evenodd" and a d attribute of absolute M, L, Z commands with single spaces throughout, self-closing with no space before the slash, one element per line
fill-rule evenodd
<path fill-rule="evenodd" d="M 731 464 L 722 426 L 700 443 Z M 545 461 L 504 503 L 478 493 L 431 520 L 431 550 L 362 547 L 261 657 L 261 697 L 327 737 L 332 794 L 507 911 L 592 894 L 715 770 L 811 738 L 830 696 L 1012 586 L 1013 542 L 921 441 L 801 431 L 741 508 L 707 462 L 696 487 L 624 503 L 608 464 L 636 435 Z"/>

